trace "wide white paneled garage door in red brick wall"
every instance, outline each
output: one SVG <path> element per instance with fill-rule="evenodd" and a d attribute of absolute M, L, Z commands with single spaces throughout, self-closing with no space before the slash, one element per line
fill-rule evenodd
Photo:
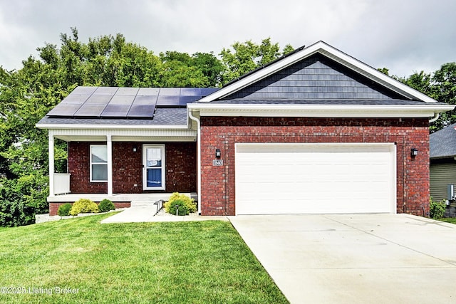
<path fill-rule="evenodd" d="M 395 213 L 394 144 L 237 144 L 236 214 Z"/>

